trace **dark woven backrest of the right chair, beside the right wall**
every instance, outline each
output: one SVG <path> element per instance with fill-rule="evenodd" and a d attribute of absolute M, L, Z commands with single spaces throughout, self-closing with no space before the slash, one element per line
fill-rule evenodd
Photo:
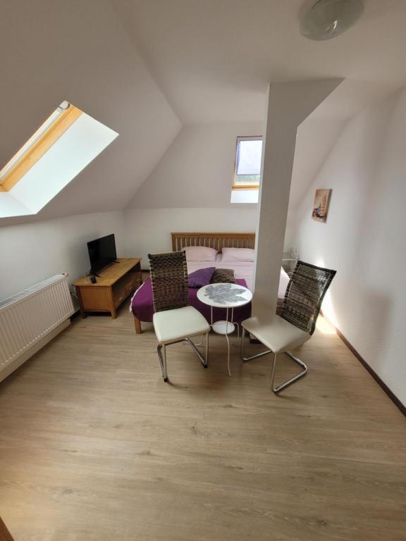
<path fill-rule="evenodd" d="M 312 335 L 321 302 L 336 272 L 297 261 L 286 288 L 281 317 Z"/>

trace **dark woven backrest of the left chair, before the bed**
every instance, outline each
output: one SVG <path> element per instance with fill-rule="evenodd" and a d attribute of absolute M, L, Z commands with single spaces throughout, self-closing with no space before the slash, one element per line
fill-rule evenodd
<path fill-rule="evenodd" d="M 183 308 L 189 304 L 189 282 L 184 251 L 148 254 L 154 311 Z"/>

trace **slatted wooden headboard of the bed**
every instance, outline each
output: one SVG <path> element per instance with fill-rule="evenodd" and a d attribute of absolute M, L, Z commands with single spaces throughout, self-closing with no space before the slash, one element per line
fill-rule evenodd
<path fill-rule="evenodd" d="M 255 233 L 171 233 L 172 251 L 187 246 L 208 246 L 220 254 L 227 248 L 254 248 Z"/>

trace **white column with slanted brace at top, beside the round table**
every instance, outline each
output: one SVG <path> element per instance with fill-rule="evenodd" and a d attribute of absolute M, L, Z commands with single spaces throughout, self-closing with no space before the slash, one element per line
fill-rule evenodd
<path fill-rule="evenodd" d="M 283 82 L 269 86 L 254 270 L 255 316 L 276 311 L 297 127 L 341 81 Z"/>

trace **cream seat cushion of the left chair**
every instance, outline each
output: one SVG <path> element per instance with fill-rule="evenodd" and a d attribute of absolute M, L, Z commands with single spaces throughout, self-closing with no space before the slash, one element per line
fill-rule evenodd
<path fill-rule="evenodd" d="M 152 321 L 160 344 L 202 335 L 210 330 L 206 318 L 193 306 L 156 312 Z"/>

